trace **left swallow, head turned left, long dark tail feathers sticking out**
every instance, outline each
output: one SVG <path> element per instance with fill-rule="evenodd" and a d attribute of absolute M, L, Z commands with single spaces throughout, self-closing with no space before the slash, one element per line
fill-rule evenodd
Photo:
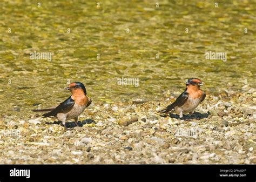
<path fill-rule="evenodd" d="M 72 95 L 57 107 L 32 111 L 47 112 L 42 115 L 43 118 L 56 117 L 58 120 L 62 121 L 67 130 L 65 125 L 66 121 L 75 119 L 75 123 L 78 126 L 78 116 L 84 112 L 85 108 L 88 107 L 92 101 L 86 96 L 85 86 L 80 82 L 71 83 L 65 90 L 69 90 Z"/>

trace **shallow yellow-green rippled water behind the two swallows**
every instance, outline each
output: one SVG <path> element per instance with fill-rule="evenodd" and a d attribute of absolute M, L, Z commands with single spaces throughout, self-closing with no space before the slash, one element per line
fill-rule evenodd
<path fill-rule="evenodd" d="M 1 115 L 62 102 L 69 80 L 83 82 L 94 104 L 177 96 L 190 77 L 212 95 L 255 87 L 255 1 L 158 2 L 1 1 Z M 34 51 L 52 60 L 31 60 Z M 139 86 L 118 85 L 122 77 Z"/>

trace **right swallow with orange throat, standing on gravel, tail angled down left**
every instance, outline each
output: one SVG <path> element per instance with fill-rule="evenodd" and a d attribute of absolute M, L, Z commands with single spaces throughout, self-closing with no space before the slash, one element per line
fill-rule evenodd
<path fill-rule="evenodd" d="M 160 113 L 169 113 L 172 109 L 182 118 L 184 113 L 193 114 L 197 106 L 205 99 L 205 92 L 200 90 L 203 85 L 200 79 L 190 78 L 186 81 L 186 89 L 181 95 L 166 109 L 158 111 Z"/>

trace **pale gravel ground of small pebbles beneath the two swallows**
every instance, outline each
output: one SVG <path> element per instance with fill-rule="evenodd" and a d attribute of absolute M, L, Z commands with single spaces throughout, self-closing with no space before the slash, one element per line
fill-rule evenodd
<path fill-rule="evenodd" d="M 93 99 L 93 98 L 92 98 Z M 31 112 L 3 116 L 1 164 L 255 164 L 256 92 L 207 93 L 192 116 L 159 115 L 174 97 L 93 103 L 69 130 Z"/>

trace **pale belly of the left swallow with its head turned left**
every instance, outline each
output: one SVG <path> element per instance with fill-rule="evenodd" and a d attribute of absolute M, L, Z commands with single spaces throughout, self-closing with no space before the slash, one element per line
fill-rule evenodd
<path fill-rule="evenodd" d="M 80 106 L 78 104 L 75 104 L 69 112 L 67 112 L 67 113 L 58 113 L 57 118 L 59 120 L 62 120 L 62 121 L 76 118 L 84 112 L 85 107 L 86 107 L 86 105 Z"/>

